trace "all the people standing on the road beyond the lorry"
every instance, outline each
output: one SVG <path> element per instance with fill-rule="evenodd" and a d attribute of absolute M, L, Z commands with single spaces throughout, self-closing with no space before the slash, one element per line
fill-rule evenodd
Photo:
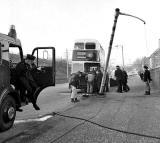
<path fill-rule="evenodd" d="M 128 74 L 124 68 L 120 68 L 120 66 L 116 66 L 116 70 L 114 73 L 117 82 L 117 92 L 128 92 L 130 87 L 127 84 Z M 98 68 L 97 70 L 91 69 L 88 73 L 85 73 L 85 81 L 87 84 L 87 89 L 85 95 L 93 95 L 94 93 L 99 93 L 101 87 L 103 73 Z M 77 87 L 80 84 L 80 79 L 82 78 L 82 72 L 78 71 L 77 73 L 73 73 L 70 77 L 69 87 L 71 89 L 71 102 L 79 102 L 78 94 L 77 94 Z M 150 95 L 150 81 L 152 81 L 150 76 L 150 71 L 148 70 L 147 66 L 144 66 L 143 72 L 143 81 L 145 82 L 145 95 Z M 108 82 L 109 76 L 107 74 L 106 81 L 105 81 L 105 91 L 108 92 Z"/>

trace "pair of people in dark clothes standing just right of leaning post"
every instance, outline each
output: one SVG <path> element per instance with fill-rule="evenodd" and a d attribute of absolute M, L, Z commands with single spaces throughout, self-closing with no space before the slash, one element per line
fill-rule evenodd
<path fill-rule="evenodd" d="M 116 70 L 115 70 L 115 77 L 116 77 L 116 81 L 117 81 L 117 92 L 122 93 L 124 92 L 128 92 L 130 90 L 128 84 L 127 84 L 127 80 L 128 80 L 128 75 L 127 72 L 123 69 L 120 68 L 120 66 L 116 66 Z"/>

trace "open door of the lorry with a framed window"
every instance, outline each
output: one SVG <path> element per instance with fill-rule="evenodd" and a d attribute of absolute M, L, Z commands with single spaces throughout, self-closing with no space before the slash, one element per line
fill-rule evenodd
<path fill-rule="evenodd" d="M 33 75 L 38 86 L 55 86 L 55 48 L 37 47 L 32 55 L 36 57 L 35 65 L 38 70 Z"/>

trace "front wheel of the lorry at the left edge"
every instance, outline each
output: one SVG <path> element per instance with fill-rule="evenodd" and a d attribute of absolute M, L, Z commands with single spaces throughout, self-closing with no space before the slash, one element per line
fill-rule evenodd
<path fill-rule="evenodd" d="M 0 132 L 6 131 L 13 126 L 16 116 L 16 102 L 7 95 L 0 105 Z"/>

